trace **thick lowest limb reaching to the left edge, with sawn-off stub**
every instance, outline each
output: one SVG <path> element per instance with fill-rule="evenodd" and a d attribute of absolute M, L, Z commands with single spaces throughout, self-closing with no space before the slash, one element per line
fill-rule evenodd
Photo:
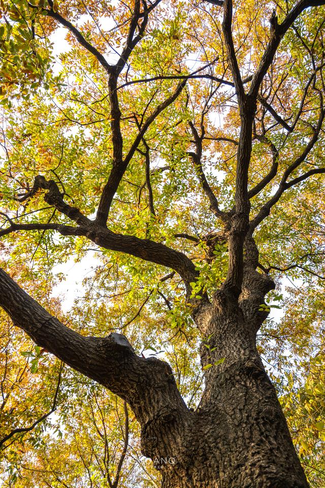
<path fill-rule="evenodd" d="M 126 400 L 143 427 L 161 415 L 187 411 L 167 363 L 138 357 L 124 335 L 113 332 L 95 338 L 75 332 L 52 317 L 3 269 L 0 306 L 36 344 Z"/>

